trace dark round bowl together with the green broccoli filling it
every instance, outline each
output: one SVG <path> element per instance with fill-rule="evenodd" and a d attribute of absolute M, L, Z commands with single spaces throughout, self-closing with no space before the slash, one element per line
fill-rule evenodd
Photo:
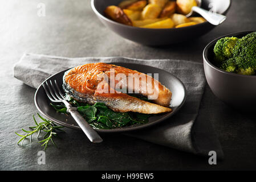
<path fill-rule="evenodd" d="M 204 71 L 212 92 L 235 109 L 256 105 L 256 31 L 221 36 L 204 49 Z"/>

